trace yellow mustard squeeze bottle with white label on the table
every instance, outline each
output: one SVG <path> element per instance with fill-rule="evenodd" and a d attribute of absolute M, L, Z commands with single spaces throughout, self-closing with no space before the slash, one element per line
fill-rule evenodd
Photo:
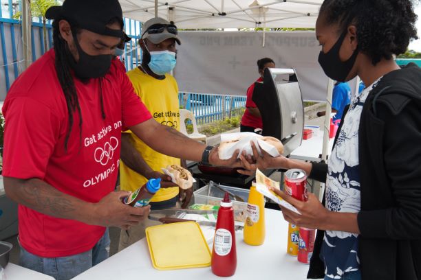
<path fill-rule="evenodd" d="M 252 182 L 244 222 L 244 242 L 249 245 L 261 245 L 265 242 L 265 234 L 265 198 L 256 190 L 256 183 Z"/>

